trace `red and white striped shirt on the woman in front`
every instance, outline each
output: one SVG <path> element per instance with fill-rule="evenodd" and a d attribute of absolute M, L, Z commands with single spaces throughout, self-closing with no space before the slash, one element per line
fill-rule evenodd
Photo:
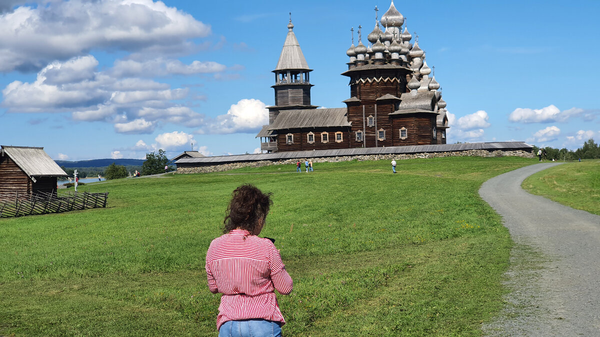
<path fill-rule="evenodd" d="M 240 229 L 217 237 L 206 252 L 206 276 L 211 292 L 223 293 L 217 330 L 250 318 L 286 323 L 274 290 L 289 295 L 292 278 L 271 240 Z"/>

